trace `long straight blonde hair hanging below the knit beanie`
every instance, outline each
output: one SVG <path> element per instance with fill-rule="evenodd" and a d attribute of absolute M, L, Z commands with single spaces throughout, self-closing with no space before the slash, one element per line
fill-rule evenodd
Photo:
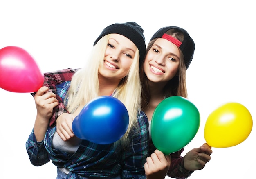
<path fill-rule="evenodd" d="M 103 64 L 104 54 L 110 34 L 102 37 L 92 49 L 83 69 L 74 74 L 70 89 L 67 92 L 65 103 L 70 113 L 74 113 L 77 107 L 85 105 L 93 98 L 99 96 L 99 66 Z M 137 116 L 140 110 L 141 83 L 139 79 L 139 50 L 137 49 L 132 65 L 126 77 L 121 79 L 113 93 L 113 97 L 119 99 L 126 106 L 129 114 L 129 125 L 126 133 L 119 142 L 123 146 L 129 144 L 129 133 L 137 129 Z"/>

